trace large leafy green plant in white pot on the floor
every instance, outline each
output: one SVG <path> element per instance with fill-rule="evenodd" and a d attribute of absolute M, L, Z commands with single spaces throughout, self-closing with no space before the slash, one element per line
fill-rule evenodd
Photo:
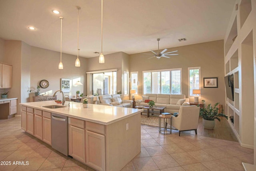
<path fill-rule="evenodd" d="M 215 103 L 213 107 L 211 104 L 208 104 L 208 106 L 206 107 L 205 100 L 202 100 L 202 103 L 203 107 L 200 108 L 199 115 L 203 118 L 203 126 L 205 129 L 214 129 L 214 119 L 218 119 L 218 121 L 220 121 L 219 117 L 225 117 L 226 119 L 228 119 L 228 116 L 223 113 L 223 109 L 219 113 L 219 109 L 217 107 L 219 103 Z"/>

